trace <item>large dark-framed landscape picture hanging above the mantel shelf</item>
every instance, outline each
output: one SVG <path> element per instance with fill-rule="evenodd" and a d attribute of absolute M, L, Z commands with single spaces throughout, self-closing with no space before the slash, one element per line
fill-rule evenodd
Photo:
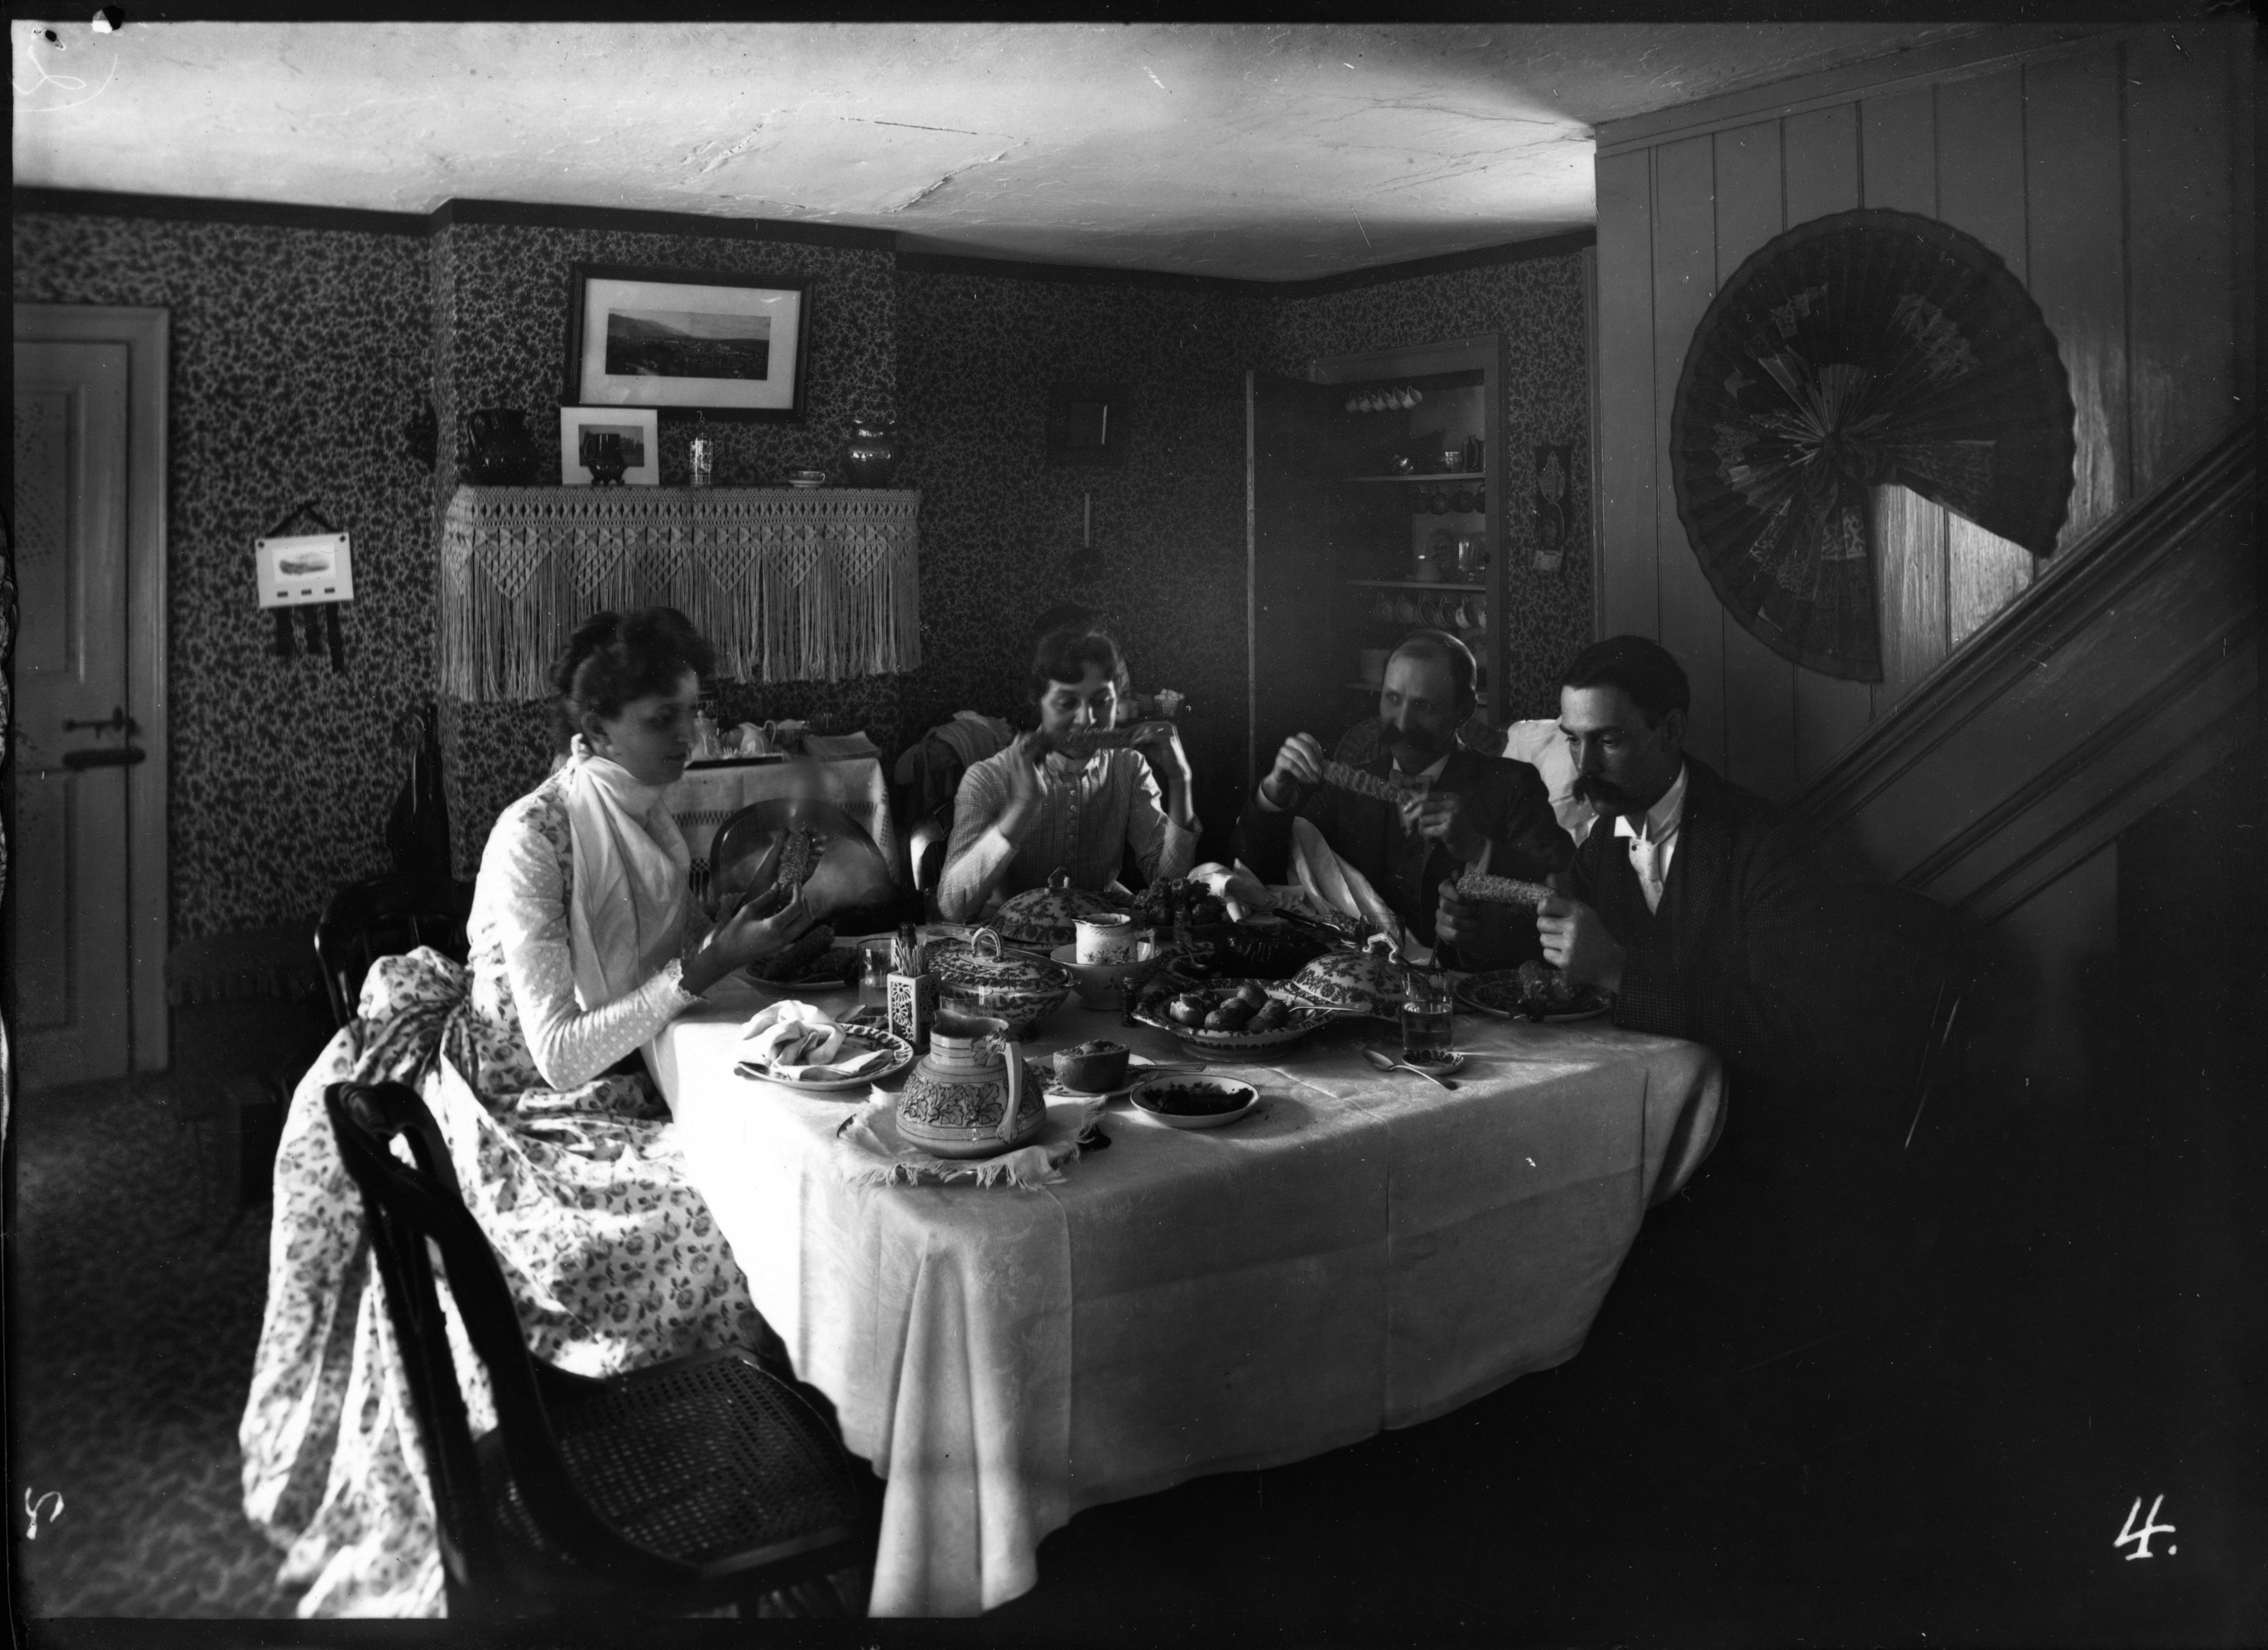
<path fill-rule="evenodd" d="M 801 419 L 805 281 L 578 263 L 567 394 L 710 417 Z"/>

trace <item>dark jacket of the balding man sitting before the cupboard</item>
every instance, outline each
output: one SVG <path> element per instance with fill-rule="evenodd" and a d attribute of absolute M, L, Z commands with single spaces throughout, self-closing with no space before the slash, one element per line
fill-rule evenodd
<path fill-rule="evenodd" d="M 1393 752 L 1379 746 L 1377 723 L 1356 725 L 1338 741 L 1338 759 L 1365 773 L 1386 777 L 1393 768 Z M 1551 814 L 1551 793 L 1542 777 L 1526 762 L 1506 757 L 1483 757 L 1465 746 L 1449 752 L 1436 791 L 1456 791 L 1472 809 L 1481 834 L 1490 841 L 1488 868 L 1499 877 L 1526 877 L 1540 882 L 1554 870 L 1565 870 L 1574 857 L 1574 843 Z M 1349 866 L 1370 877 L 1370 886 L 1395 909 L 1411 932 L 1433 943 L 1433 909 L 1440 884 L 1463 870 L 1463 861 L 1440 843 L 1411 836 L 1402 830 L 1399 811 L 1381 800 L 1340 791 L 1336 784 L 1320 784 L 1297 807 L 1297 814 L 1313 820 L 1331 850 Z M 1261 882 L 1290 879 L 1290 811 L 1275 811 L 1247 800 L 1236 820 L 1236 857 L 1261 877 Z M 1488 956 L 1492 968 L 1535 956 L 1533 922 L 1510 922 L 1508 954 Z M 1483 959 L 1465 959 L 1483 961 Z"/>

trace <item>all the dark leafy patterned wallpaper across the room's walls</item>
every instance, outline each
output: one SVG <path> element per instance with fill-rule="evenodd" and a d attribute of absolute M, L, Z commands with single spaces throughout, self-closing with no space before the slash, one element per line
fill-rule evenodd
<path fill-rule="evenodd" d="M 399 784 L 386 730 L 429 694 L 433 542 L 463 412 L 519 406 L 556 442 L 574 263 L 801 274 L 812 281 L 805 424 L 712 424 L 719 483 L 830 465 L 850 415 L 896 410 L 900 485 L 923 492 L 923 666 L 898 678 L 728 687 L 728 721 L 864 728 L 896 752 L 955 709 L 1016 712 L 1032 619 L 1100 607 L 1143 689 L 1191 696 L 1198 805 L 1227 832 L 1243 777 L 1243 372 L 1318 354 L 1501 329 L 1520 496 L 1529 449 L 1576 444 L 1565 571 L 1513 567 L 1513 707 L 1551 709 L 1590 635 L 1588 367 L 1579 258 L 1415 277 L 1325 297 L 900 270 L 887 252 L 694 233 L 451 224 L 429 238 L 77 213 L 16 218 L 16 297 L 163 304 L 172 388 L 172 927 L 313 916 L 386 868 Z M 1046 465 L 1048 388 L 1129 390 L 1123 469 Z M 431 394 L 442 453 L 401 428 Z M 692 426 L 662 424 L 662 478 Z M 313 496 L 354 533 L 349 673 L 268 653 L 249 542 Z M 1073 576 L 1082 499 L 1100 569 Z M 1510 521 L 1526 548 L 1529 524 Z M 544 771 L 542 705 L 445 705 L 458 868 Z M 1218 836 L 1209 848 L 1218 845 Z"/>

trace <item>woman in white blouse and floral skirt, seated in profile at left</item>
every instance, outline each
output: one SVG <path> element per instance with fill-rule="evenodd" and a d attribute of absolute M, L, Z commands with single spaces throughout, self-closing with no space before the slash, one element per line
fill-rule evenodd
<path fill-rule="evenodd" d="M 503 809 L 481 857 L 469 963 L 370 972 L 361 1015 L 299 1083 L 277 1154 L 268 1315 L 238 1441 L 245 1512 L 286 1548 L 304 1616 L 440 1614 L 429 1485 L 361 1247 L 327 1083 L 415 1083 L 519 1305 L 528 1346 L 610 1376 L 755 1346 L 762 1317 L 635 1058 L 735 968 L 801 934 L 801 893 L 714 927 L 662 791 L 685 771 L 710 646 L 669 607 L 599 614 L 553 682 L 569 759 Z M 345 1333 L 352 1326 L 352 1333 Z M 481 1367 L 458 1351 L 474 1430 Z"/>

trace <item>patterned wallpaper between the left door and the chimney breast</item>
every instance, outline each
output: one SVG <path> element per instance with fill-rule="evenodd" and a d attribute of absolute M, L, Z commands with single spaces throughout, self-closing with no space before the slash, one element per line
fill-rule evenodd
<path fill-rule="evenodd" d="M 172 934 L 313 916 L 390 866 L 388 725 L 429 694 L 431 478 L 401 426 L 431 335 L 413 236 L 16 213 L 16 299 L 172 313 Z M 277 657 L 252 539 L 302 499 L 354 535 L 347 673 Z"/>

